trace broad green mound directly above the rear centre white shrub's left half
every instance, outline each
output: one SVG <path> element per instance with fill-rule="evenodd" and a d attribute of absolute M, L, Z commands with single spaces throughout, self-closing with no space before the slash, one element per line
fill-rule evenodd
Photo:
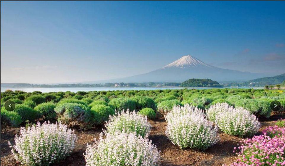
<path fill-rule="evenodd" d="M 109 105 L 113 106 L 113 108 L 115 108 L 119 112 L 127 109 L 133 111 L 136 108 L 136 103 L 128 98 L 112 99 L 109 102 Z"/>

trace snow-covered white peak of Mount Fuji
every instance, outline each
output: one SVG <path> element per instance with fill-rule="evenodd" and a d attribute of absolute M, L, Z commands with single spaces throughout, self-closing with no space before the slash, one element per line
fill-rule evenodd
<path fill-rule="evenodd" d="M 181 57 L 180 59 L 164 66 L 163 68 L 166 68 L 166 67 L 185 68 L 185 67 L 198 67 L 198 66 L 212 67 L 212 66 L 200 61 L 199 59 L 197 59 L 191 55 L 187 55 L 187 56 Z"/>

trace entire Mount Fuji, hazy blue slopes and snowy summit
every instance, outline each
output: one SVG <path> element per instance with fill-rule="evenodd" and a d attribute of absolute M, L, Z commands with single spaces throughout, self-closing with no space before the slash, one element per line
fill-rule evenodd
<path fill-rule="evenodd" d="M 101 82 L 183 82 L 190 78 L 209 78 L 215 81 L 246 81 L 265 76 L 268 75 L 214 67 L 196 57 L 187 55 L 160 69 L 145 74 Z"/>

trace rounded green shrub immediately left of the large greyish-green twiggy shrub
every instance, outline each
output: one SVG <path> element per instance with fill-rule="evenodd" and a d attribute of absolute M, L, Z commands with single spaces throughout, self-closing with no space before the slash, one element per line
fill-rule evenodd
<path fill-rule="evenodd" d="M 51 120 L 56 117 L 55 113 L 55 107 L 56 105 L 54 103 L 42 103 L 37 105 L 34 109 L 38 111 L 44 119 Z"/>

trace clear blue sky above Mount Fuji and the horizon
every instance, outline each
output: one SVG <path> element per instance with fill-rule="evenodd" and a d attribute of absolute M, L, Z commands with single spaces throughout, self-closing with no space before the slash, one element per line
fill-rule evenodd
<path fill-rule="evenodd" d="M 121 78 L 184 55 L 285 72 L 284 1 L 1 1 L 1 83 Z"/>

